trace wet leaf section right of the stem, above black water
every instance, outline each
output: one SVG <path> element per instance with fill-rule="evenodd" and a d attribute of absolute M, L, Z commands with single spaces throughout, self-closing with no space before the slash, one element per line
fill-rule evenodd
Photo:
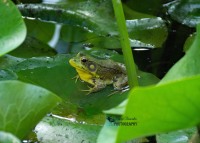
<path fill-rule="evenodd" d="M 168 29 L 160 17 L 127 20 L 126 24 L 131 38 L 131 47 L 136 47 L 137 41 L 146 43 L 145 46 L 138 43 L 137 47 L 162 47 L 168 36 Z M 133 39 L 137 41 L 134 42 Z"/>

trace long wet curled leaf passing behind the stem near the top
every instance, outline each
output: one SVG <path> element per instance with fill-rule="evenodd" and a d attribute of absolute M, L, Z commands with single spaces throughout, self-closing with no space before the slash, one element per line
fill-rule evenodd
<path fill-rule="evenodd" d="M 120 48 L 118 30 L 110 1 L 78 2 L 67 6 L 28 4 L 18 5 L 18 8 L 22 14 L 27 17 L 39 18 L 45 21 L 55 21 L 70 26 L 78 26 L 84 29 L 85 32 L 88 31 L 90 34 L 94 33 L 97 36 L 103 36 L 102 39 L 99 37 L 93 37 L 92 39 L 83 37 L 82 40 L 88 40 L 87 42 L 93 45 L 96 44 L 94 43 L 96 41 L 97 43 L 103 43 L 101 46 L 95 45 L 96 47 L 109 49 Z M 141 20 L 134 19 L 127 21 L 131 46 L 161 47 L 167 37 L 167 28 L 164 21 L 161 18 L 145 19 L 142 16 L 140 18 Z M 158 36 L 159 38 L 157 38 Z M 75 37 L 75 39 L 78 38 Z M 113 43 L 116 44 L 113 46 Z"/>

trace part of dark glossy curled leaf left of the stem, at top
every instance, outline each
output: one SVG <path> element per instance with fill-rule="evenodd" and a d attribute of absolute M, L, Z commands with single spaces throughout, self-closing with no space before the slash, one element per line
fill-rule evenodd
<path fill-rule="evenodd" d="M 99 35 L 113 35 L 116 34 L 116 25 L 113 25 L 114 16 L 112 9 L 110 9 L 111 6 L 110 1 L 89 1 L 68 5 L 20 4 L 18 8 L 25 17 L 31 16 L 42 20 L 80 26 Z M 103 19 L 102 16 L 104 16 Z M 109 33 L 107 33 L 108 31 Z"/>

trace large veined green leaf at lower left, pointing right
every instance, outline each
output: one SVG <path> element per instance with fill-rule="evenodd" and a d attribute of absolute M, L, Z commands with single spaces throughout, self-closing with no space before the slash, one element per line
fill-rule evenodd
<path fill-rule="evenodd" d="M 1 81 L 0 90 L 0 130 L 20 139 L 60 101 L 41 87 L 19 81 Z"/>

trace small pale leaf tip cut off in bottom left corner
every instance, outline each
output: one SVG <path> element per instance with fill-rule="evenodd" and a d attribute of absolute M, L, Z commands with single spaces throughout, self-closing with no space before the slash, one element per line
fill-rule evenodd
<path fill-rule="evenodd" d="M 21 143 L 14 135 L 0 131 L 0 143 Z"/>

